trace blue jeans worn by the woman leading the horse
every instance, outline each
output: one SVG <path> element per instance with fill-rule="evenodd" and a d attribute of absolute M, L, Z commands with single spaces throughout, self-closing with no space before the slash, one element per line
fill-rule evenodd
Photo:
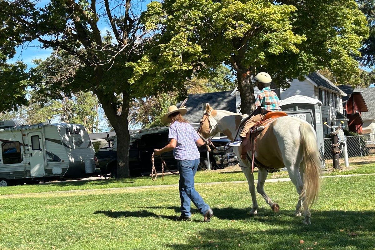
<path fill-rule="evenodd" d="M 184 217 L 190 217 L 190 201 L 198 208 L 201 214 L 207 213 L 210 209 L 194 189 L 194 175 L 198 169 L 199 159 L 196 160 L 177 160 L 178 171 L 180 171 L 180 189 L 181 214 Z"/>

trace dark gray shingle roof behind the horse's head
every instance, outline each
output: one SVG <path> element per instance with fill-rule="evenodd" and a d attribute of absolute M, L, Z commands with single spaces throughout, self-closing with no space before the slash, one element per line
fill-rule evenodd
<path fill-rule="evenodd" d="M 189 94 L 184 118 L 190 123 L 199 123 L 203 116 L 202 103 L 209 102 L 213 109 L 223 109 L 236 113 L 236 97 L 231 96 L 232 91 L 222 91 L 204 94 Z M 180 103 L 177 104 L 180 107 Z"/>

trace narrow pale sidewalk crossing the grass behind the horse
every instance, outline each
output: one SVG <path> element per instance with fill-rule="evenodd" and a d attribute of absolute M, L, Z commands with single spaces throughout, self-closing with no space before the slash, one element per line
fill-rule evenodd
<path fill-rule="evenodd" d="M 362 176 L 362 175 L 375 175 L 375 174 L 349 174 L 349 175 L 328 175 L 321 176 L 320 178 L 335 178 L 335 177 L 352 177 L 352 176 Z M 266 182 L 285 182 L 290 181 L 290 178 L 279 178 L 279 179 L 267 179 Z M 217 185 L 217 184 L 236 184 L 236 183 L 247 183 L 248 181 L 222 181 L 222 182 L 206 182 L 206 183 L 195 183 L 195 186 L 201 185 Z M 255 183 L 258 181 L 255 180 Z M 178 187 L 178 184 L 169 185 L 155 185 L 155 186 L 140 186 L 140 187 L 112 187 L 108 189 L 81 189 L 81 190 L 65 190 L 65 191 L 51 191 L 51 192 L 40 192 L 40 193 L 25 193 L 25 194 L 14 194 L 14 195 L 0 195 L 0 199 L 4 198 L 22 198 L 22 197 L 33 197 L 41 195 L 52 195 L 52 194 L 71 194 L 77 193 L 81 195 L 95 194 L 116 191 L 116 190 L 140 190 L 140 189 L 158 189 L 167 187 Z"/>

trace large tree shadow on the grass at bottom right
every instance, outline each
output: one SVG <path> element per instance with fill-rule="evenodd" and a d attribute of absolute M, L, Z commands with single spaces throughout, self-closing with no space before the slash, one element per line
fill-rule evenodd
<path fill-rule="evenodd" d="M 230 212 L 225 215 L 224 213 Z M 237 212 L 251 229 L 204 229 L 189 236 L 188 243 L 170 244 L 172 249 L 374 249 L 375 211 L 312 211 L 312 225 L 303 225 L 294 211 L 275 214 L 265 211 L 255 217 L 246 216 L 245 210 L 214 209 L 218 219 L 236 220 Z M 215 223 L 214 220 L 211 223 Z M 201 240 L 203 239 L 203 240 Z M 300 240 L 304 242 L 301 244 Z"/>

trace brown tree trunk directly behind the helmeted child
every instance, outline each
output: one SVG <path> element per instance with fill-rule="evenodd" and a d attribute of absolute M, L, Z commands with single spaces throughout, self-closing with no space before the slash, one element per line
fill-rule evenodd
<path fill-rule="evenodd" d="M 241 96 L 241 113 L 251 114 L 254 109 L 255 96 L 254 87 L 251 83 L 250 70 L 237 70 L 238 90 Z"/>

